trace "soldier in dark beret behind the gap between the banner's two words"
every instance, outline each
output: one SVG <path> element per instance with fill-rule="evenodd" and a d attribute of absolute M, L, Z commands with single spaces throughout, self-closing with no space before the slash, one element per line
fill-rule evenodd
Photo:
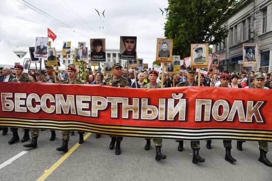
<path fill-rule="evenodd" d="M 195 68 L 187 67 L 187 80 L 180 82 L 177 87 L 183 86 L 198 86 L 198 83 L 195 81 Z M 199 156 L 200 142 L 199 141 L 191 141 L 191 148 L 193 150 L 193 163 L 205 162 L 204 158 Z M 183 150 L 183 140 L 179 140 L 178 150 Z"/>

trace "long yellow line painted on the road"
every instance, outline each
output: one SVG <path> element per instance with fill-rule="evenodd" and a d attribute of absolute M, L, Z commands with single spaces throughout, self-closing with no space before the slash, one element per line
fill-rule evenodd
<path fill-rule="evenodd" d="M 86 140 L 91 133 L 87 133 L 84 137 Z M 37 180 L 37 181 L 44 181 L 54 170 L 66 160 L 81 144 L 77 143 L 74 145 L 67 153 L 65 153 L 53 166 L 51 166 L 48 170 L 45 170 L 45 173 Z"/>

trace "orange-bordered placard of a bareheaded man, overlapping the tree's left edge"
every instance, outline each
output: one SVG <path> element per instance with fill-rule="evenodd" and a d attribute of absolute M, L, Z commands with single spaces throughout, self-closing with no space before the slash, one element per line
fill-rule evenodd
<path fill-rule="evenodd" d="M 171 63 L 173 39 L 157 38 L 156 62 Z"/>

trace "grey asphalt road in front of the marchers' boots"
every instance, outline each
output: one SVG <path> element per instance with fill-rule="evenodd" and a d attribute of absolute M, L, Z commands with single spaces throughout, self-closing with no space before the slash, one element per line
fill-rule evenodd
<path fill-rule="evenodd" d="M 23 136 L 22 129 L 19 136 Z M 121 155 L 115 155 L 114 150 L 108 148 L 108 136 L 95 139 L 95 134 L 91 134 L 67 156 L 56 151 L 62 144 L 59 131 L 53 142 L 49 141 L 49 131 L 41 131 L 36 149 L 25 148 L 21 142 L 8 145 L 11 137 L 10 131 L 6 136 L 0 135 L 0 181 L 36 181 L 44 174 L 46 181 L 272 181 L 272 167 L 258 161 L 257 142 L 246 142 L 243 151 L 239 151 L 236 141 L 232 141 L 231 154 L 237 162 L 231 164 L 224 159 L 222 141 L 212 141 L 211 150 L 206 148 L 206 141 L 201 141 L 200 156 L 206 161 L 193 164 L 187 141 L 184 150 L 179 152 L 177 142 L 163 140 L 162 152 L 167 159 L 156 161 L 154 145 L 146 151 L 145 140 L 140 138 L 124 138 Z M 70 137 L 69 149 L 77 144 L 78 138 L 77 133 Z M 23 155 L 3 166 L 20 153 Z M 272 152 L 268 152 L 267 157 L 272 161 Z M 60 163 L 61 158 L 64 161 Z M 51 173 L 47 171 L 49 168 Z"/>

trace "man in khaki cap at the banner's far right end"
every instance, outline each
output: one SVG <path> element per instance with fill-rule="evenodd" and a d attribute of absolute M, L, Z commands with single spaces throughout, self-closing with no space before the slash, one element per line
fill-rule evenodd
<path fill-rule="evenodd" d="M 261 73 L 254 75 L 254 87 L 255 89 L 264 89 L 265 76 Z M 264 163 L 267 166 L 272 167 L 272 163 L 267 159 L 268 152 L 268 143 L 267 142 L 258 142 L 260 149 L 259 161 Z M 242 150 L 243 141 L 237 141 L 237 149 Z"/>

